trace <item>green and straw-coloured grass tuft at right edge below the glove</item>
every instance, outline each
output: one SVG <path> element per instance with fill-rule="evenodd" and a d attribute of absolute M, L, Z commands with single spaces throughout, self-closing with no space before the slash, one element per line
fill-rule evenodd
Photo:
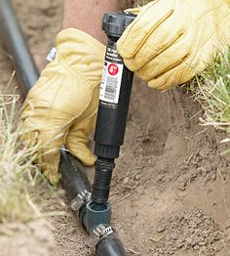
<path fill-rule="evenodd" d="M 230 143 L 230 48 L 216 54 L 212 64 L 191 86 L 197 88 L 196 97 L 205 112 L 202 124 L 226 132 L 222 143 Z M 230 152 L 230 147 L 225 152 Z"/>

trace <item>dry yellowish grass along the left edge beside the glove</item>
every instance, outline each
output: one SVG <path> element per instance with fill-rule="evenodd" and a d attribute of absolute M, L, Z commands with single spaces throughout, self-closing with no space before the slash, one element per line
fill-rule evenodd
<path fill-rule="evenodd" d="M 0 92 L 0 223 L 28 222 L 34 217 L 34 185 L 41 176 L 33 165 L 36 149 L 19 142 L 16 108 L 19 97 Z"/>

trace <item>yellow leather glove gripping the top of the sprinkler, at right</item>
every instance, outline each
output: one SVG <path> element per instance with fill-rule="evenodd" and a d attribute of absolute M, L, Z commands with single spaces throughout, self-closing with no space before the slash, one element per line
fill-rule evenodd
<path fill-rule="evenodd" d="M 230 43 L 230 0 L 155 0 L 118 41 L 125 64 L 150 87 L 189 81 Z"/>

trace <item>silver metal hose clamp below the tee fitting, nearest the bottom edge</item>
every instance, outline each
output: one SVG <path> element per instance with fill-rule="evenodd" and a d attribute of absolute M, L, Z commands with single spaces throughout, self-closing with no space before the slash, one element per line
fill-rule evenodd
<path fill-rule="evenodd" d="M 114 231 L 111 227 L 105 227 L 104 225 L 100 224 L 87 238 L 86 244 L 88 247 L 93 248 L 94 252 L 96 253 L 96 245 L 98 244 L 100 238 L 113 233 Z"/>

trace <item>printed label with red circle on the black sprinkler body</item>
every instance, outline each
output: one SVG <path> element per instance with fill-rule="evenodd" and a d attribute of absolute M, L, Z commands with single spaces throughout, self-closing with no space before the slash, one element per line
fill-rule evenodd
<path fill-rule="evenodd" d="M 110 44 L 106 51 L 100 85 L 100 105 L 111 108 L 118 106 L 123 69 L 123 60 L 116 50 L 116 44 Z"/>

